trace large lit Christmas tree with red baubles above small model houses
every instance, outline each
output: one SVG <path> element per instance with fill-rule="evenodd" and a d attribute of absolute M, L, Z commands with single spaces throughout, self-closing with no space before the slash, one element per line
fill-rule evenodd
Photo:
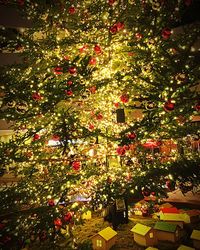
<path fill-rule="evenodd" d="M 176 28 L 191 1 L 14 4 L 33 25 L 4 44 L 22 59 L 1 69 L 0 163 L 20 179 L 1 190 L 3 247 L 73 239 L 86 204 L 198 186 L 199 24 Z"/>

